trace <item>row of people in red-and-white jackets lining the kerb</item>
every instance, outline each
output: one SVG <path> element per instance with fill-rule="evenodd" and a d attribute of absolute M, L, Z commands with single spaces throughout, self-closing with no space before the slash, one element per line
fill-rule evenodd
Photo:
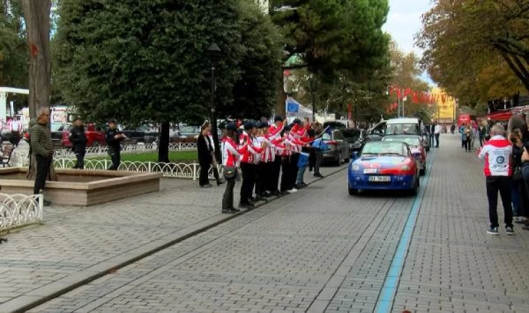
<path fill-rule="evenodd" d="M 233 204 L 237 177 L 242 177 L 239 207 L 244 209 L 253 208 L 258 200 L 304 188 L 307 167 L 314 170 L 315 177 L 322 177 L 323 132 L 317 122 L 309 125 L 297 119 L 286 125 L 281 116 L 271 125 L 266 119 L 246 122 L 242 130 L 235 123 L 226 125 L 221 147 L 227 182 L 222 212 L 239 211 Z"/>

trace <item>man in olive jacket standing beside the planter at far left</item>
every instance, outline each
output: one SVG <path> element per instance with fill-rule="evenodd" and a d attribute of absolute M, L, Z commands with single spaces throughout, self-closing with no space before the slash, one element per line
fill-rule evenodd
<path fill-rule="evenodd" d="M 49 174 L 49 167 L 53 161 L 52 132 L 49 129 L 48 123 L 49 109 L 42 109 L 38 113 L 37 123 L 30 130 L 31 153 L 35 154 L 35 161 L 37 163 L 37 175 L 35 177 L 35 185 L 33 186 L 33 194 L 35 195 L 38 195 L 40 191 L 44 190 Z"/>

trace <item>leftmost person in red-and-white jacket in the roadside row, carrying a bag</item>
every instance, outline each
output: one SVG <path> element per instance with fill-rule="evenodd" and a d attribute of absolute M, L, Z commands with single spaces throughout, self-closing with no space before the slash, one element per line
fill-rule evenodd
<path fill-rule="evenodd" d="M 222 165 L 224 168 L 238 168 L 240 166 L 241 156 L 248 145 L 237 145 L 237 126 L 234 123 L 226 125 L 226 135 L 222 139 Z M 225 177 L 226 178 L 226 177 Z M 240 210 L 233 207 L 233 188 L 235 188 L 235 177 L 226 178 L 226 190 L 222 197 L 222 213 L 237 213 Z"/>

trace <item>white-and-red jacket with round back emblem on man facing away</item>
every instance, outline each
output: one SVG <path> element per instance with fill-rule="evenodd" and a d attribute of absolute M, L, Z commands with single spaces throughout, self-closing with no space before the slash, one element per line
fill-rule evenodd
<path fill-rule="evenodd" d="M 503 136 L 494 136 L 482 147 L 480 159 L 485 159 L 485 176 L 511 176 L 512 144 Z"/>

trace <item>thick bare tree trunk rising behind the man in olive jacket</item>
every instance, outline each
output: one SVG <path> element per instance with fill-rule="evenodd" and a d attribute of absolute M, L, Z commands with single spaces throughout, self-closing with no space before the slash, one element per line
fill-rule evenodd
<path fill-rule="evenodd" d="M 50 0 L 22 0 L 29 47 L 29 114 L 36 118 L 42 108 L 49 108 L 52 87 L 51 50 L 49 47 Z"/>

